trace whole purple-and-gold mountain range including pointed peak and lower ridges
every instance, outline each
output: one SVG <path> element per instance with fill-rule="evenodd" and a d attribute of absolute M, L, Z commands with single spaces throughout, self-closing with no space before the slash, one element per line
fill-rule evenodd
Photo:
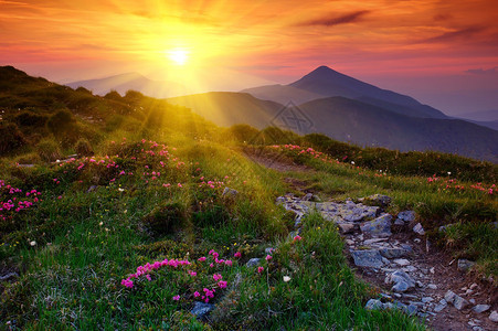
<path fill-rule="evenodd" d="M 168 102 L 221 126 L 248 124 L 262 129 L 284 122 L 282 128 L 295 129 L 288 118 L 278 118 L 293 114 L 309 121 L 298 134 L 321 132 L 361 146 L 437 150 L 498 162 L 497 130 L 448 117 L 414 98 L 326 66 L 289 85 L 197 94 Z"/>

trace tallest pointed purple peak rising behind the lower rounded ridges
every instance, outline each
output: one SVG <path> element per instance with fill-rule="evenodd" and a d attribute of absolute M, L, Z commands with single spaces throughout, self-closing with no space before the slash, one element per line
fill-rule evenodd
<path fill-rule="evenodd" d="M 296 104 L 303 104 L 317 98 L 341 96 L 359 99 L 374 106 L 382 106 L 407 116 L 447 118 L 442 111 L 422 105 L 410 96 L 379 88 L 336 72 L 328 66 L 320 66 L 288 85 L 268 85 L 247 88 L 242 92 L 280 104 L 287 104 L 290 100 Z"/>

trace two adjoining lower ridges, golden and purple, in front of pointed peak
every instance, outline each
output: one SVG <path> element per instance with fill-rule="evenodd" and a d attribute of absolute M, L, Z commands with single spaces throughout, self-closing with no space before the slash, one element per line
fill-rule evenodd
<path fill-rule="evenodd" d="M 258 129 L 278 126 L 298 134 L 320 132 L 360 146 L 436 150 L 498 162 L 498 131 L 452 118 L 422 118 L 345 97 L 329 97 L 288 108 L 246 93 L 205 93 L 168 98 L 219 126 L 247 124 Z M 388 103 L 388 106 L 390 104 Z M 309 121 L 296 130 L 297 116 Z"/>

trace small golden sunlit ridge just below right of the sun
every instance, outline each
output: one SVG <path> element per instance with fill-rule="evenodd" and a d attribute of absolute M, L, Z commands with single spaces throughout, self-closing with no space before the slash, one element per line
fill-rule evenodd
<path fill-rule="evenodd" d="M 261 100 L 247 93 L 210 92 L 166 99 L 172 105 L 191 108 L 193 113 L 219 126 L 248 124 L 258 129 L 271 126 L 272 118 L 284 106 Z"/>

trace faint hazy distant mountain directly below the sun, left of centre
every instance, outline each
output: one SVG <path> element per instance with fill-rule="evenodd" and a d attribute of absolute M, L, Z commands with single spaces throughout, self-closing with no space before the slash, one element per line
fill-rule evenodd
<path fill-rule="evenodd" d="M 116 90 L 120 95 L 124 95 L 127 90 L 133 89 L 148 96 L 166 98 L 182 95 L 186 92 L 186 87 L 180 84 L 152 81 L 137 73 L 120 74 L 99 79 L 78 81 L 65 85 L 72 88 L 82 86 L 96 95 L 105 95 L 110 90 Z"/>

